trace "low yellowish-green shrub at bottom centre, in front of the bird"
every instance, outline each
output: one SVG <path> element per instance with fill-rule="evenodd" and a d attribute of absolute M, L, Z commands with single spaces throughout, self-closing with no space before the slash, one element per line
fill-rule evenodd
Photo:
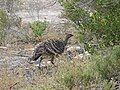
<path fill-rule="evenodd" d="M 81 68 L 78 62 L 65 62 L 57 68 L 55 81 L 62 90 L 72 90 L 79 84 Z"/>

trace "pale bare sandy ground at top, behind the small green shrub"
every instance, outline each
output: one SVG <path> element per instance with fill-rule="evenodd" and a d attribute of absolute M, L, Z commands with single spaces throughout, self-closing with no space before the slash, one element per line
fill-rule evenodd
<path fill-rule="evenodd" d="M 23 2 L 23 9 L 16 12 L 16 15 L 22 18 L 22 23 L 36 20 L 48 21 L 52 29 L 50 32 L 63 33 L 64 24 L 69 21 L 63 17 L 63 7 L 60 6 L 57 0 L 23 0 Z M 39 13 L 35 7 L 39 7 Z"/>

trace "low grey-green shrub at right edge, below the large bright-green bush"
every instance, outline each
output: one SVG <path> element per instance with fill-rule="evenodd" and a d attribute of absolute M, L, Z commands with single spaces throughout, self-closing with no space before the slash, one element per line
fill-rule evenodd
<path fill-rule="evenodd" d="M 111 51 L 108 51 L 111 50 Z M 107 52 L 107 53 L 105 53 Z M 90 82 L 108 82 L 111 78 L 120 78 L 120 46 L 107 49 L 99 55 L 93 55 L 91 61 L 83 67 L 82 81 L 85 84 Z"/>

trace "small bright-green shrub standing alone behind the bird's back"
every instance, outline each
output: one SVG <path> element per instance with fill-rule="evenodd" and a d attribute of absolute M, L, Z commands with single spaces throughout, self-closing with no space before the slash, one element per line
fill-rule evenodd
<path fill-rule="evenodd" d="M 30 25 L 30 27 L 32 28 L 35 37 L 41 37 L 47 28 L 47 22 L 35 21 Z"/>

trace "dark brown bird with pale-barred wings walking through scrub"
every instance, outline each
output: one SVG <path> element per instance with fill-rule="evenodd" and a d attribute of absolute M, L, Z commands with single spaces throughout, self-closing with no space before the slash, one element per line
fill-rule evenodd
<path fill-rule="evenodd" d="M 65 46 L 67 45 L 69 38 L 72 36 L 72 34 L 66 34 L 64 39 L 60 38 L 43 40 L 36 45 L 32 57 L 29 58 L 29 63 L 33 64 L 34 61 L 37 61 L 37 59 L 40 58 L 40 67 L 43 56 L 50 56 L 50 62 L 54 65 L 54 57 L 64 52 Z"/>

